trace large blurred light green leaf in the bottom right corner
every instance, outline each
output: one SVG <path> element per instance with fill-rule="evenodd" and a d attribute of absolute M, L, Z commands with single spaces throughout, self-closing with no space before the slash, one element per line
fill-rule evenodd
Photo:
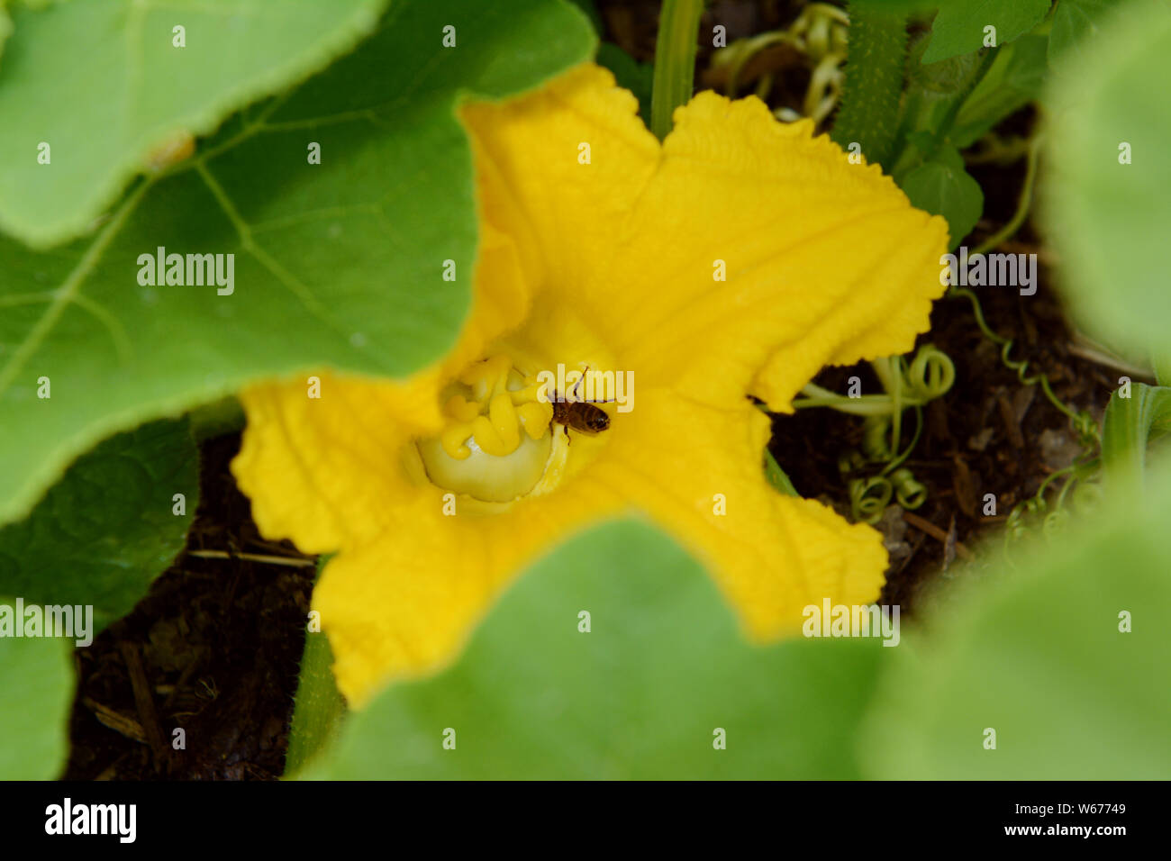
<path fill-rule="evenodd" d="M 961 611 L 933 619 L 931 636 L 904 633 L 861 736 L 868 777 L 1171 778 L 1162 478 L 1158 494 L 1122 497 L 952 596 Z"/>

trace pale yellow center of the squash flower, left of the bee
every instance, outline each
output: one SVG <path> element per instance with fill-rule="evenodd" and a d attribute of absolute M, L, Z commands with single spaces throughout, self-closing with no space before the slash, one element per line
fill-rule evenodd
<path fill-rule="evenodd" d="M 467 368 L 444 390 L 443 430 L 417 443 L 431 481 L 489 503 L 533 492 L 564 447 L 554 445 L 553 405 L 540 389 L 506 355 Z"/>

